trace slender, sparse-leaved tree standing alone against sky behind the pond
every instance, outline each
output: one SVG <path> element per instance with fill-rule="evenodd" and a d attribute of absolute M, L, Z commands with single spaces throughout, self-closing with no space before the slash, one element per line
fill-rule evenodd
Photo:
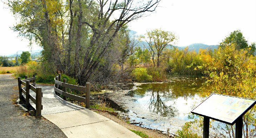
<path fill-rule="evenodd" d="M 158 29 L 147 32 L 147 36 L 149 40 L 146 40 L 148 43 L 148 46 L 146 47 L 151 54 L 154 67 L 159 67 L 160 62 L 163 60 L 160 59 L 163 56 L 163 51 L 167 48 L 167 46 L 172 46 L 170 43 L 173 42 L 176 37 L 171 32 Z"/>

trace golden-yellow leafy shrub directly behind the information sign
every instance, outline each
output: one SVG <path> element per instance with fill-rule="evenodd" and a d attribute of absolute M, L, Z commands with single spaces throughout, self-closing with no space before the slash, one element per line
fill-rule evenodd
<path fill-rule="evenodd" d="M 208 89 L 201 87 L 201 91 L 203 91 L 200 93 L 201 96 L 208 97 L 211 93 L 218 93 L 256 99 L 256 57 L 248 56 L 248 52 L 248 49 L 238 50 L 235 48 L 235 45 L 226 45 L 219 47 L 214 52 L 213 63 L 197 66 L 196 69 L 204 69 L 205 78 L 207 79 L 204 85 L 208 86 Z M 243 116 L 244 137 L 256 135 L 254 125 L 256 122 L 255 114 L 256 107 L 253 107 Z M 225 133 L 234 136 L 234 127 L 230 125 L 224 124 L 224 126 L 221 126 L 217 124 L 211 126 L 225 128 L 223 129 L 226 131 Z"/>

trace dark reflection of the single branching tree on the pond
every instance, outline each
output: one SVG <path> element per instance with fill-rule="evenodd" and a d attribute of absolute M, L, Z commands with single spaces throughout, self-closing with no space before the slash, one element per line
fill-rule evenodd
<path fill-rule="evenodd" d="M 169 93 L 169 92 L 167 92 Z M 150 98 L 150 104 L 149 104 L 149 110 L 150 112 L 157 113 L 161 116 L 170 116 L 174 117 L 178 115 L 178 110 L 174 106 L 167 106 L 161 98 L 170 98 L 168 95 L 171 94 L 166 94 L 165 92 L 160 92 L 160 91 L 152 91 L 152 95 Z"/>

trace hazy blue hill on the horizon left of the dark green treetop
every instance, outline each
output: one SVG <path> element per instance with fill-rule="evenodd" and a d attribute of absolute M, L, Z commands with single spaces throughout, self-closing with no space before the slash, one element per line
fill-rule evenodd
<path fill-rule="evenodd" d="M 188 46 L 177 46 L 177 48 L 179 50 L 184 50 L 186 47 L 188 47 L 189 51 L 195 51 L 195 52 L 199 52 L 199 49 L 217 49 L 218 45 L 206 45 L 206 44 L 201 44 L 201 43 L 195 43 L 195 44 L 191 44 Z"/>

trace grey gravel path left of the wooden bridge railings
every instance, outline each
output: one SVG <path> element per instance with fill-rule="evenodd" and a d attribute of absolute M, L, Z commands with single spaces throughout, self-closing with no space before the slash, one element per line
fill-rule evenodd
<path fill-rule="evenodd" d="M 53 123 L 41 117 L 25 115 L 11 99 L 18 95 L 13 87 L 18 80 L 11 75 L 0 75 L 0 138 L 66 138 Z"/>

